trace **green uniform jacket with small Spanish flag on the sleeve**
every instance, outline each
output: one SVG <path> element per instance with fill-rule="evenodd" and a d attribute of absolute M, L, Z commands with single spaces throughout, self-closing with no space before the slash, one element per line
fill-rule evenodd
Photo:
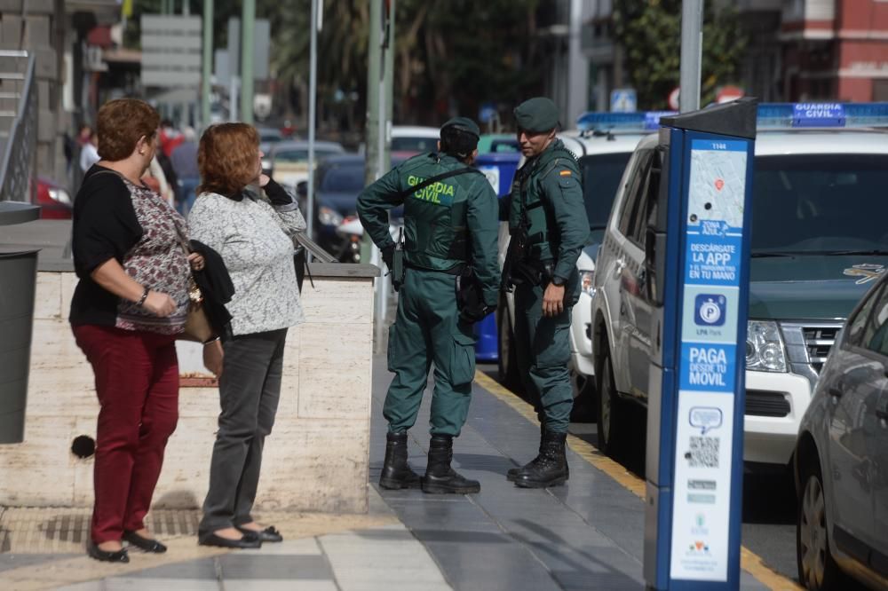
<path fill-rule="evenodd" d="M 500 201 L 500 219 L 508 219 L 510 229 L 519 225 L 522 193 L 534 252 L 541 261 L 553 261 L 552 276 L 566 283 L 589 240 L 589 220 L 580 169 L 560 139 L 515 174 L 511 194 Z"/>

